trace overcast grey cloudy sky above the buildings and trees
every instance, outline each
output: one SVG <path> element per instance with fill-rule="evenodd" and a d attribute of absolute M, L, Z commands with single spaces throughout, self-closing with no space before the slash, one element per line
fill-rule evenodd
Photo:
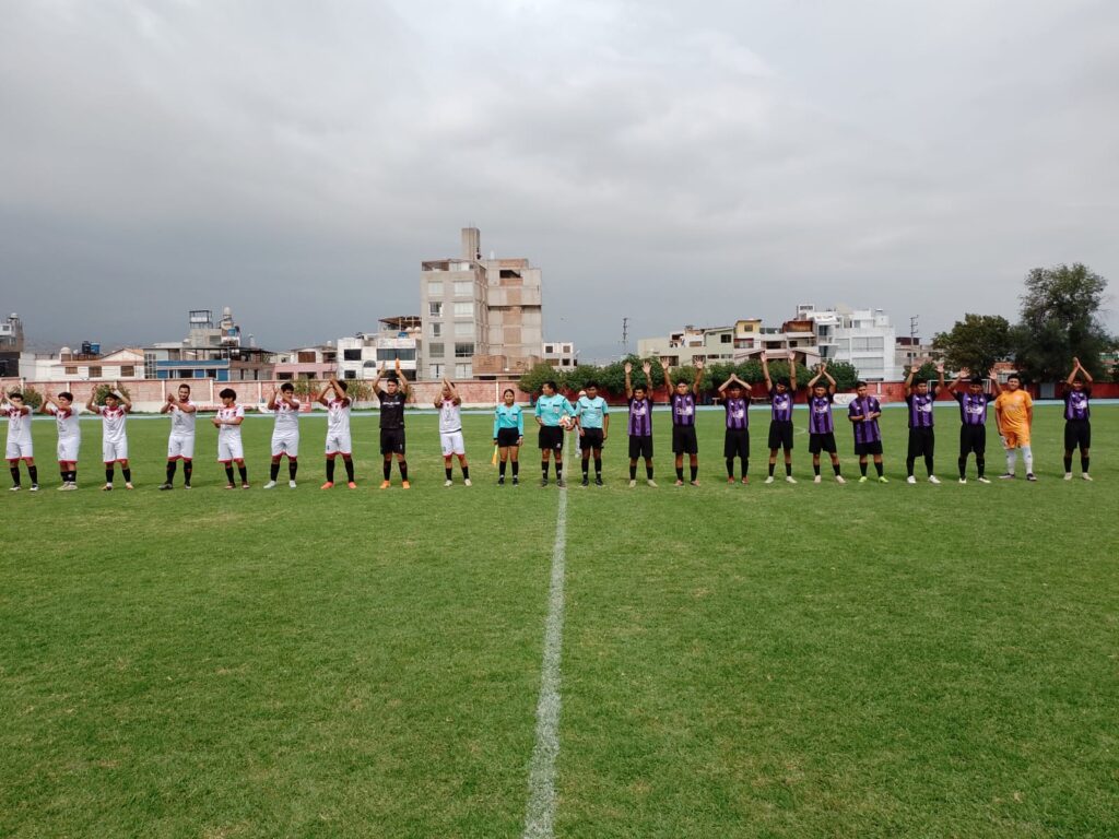
<path fill-rule="evenodd" d="M 40 346 L 270 348 L 544 268 L 582 358 L 684 323 L 1013 318 L 1119 282 L 1113 0 L 0 0 L 0 309 Z M 1116 304 L 1112 303 L 1112 309 Z M 1119 329 L 1119 317 L 1108 323 Z M 634 345 L 631 345 L 634 346 Z"/>

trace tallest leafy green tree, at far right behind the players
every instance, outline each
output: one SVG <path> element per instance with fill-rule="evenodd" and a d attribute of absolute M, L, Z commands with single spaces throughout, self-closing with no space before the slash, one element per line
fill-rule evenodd
<path fill-rule="evenodd" d="M 1018 369 L 1035 381 L 1055 381 L 1078 356 L 1092 376 L 1102 375 L 1100 352 L 1110 338 L 1099 314 L 1107 284 L 1081 263 L 1026 274 L 1022 320 L 1010 331 Z"/>

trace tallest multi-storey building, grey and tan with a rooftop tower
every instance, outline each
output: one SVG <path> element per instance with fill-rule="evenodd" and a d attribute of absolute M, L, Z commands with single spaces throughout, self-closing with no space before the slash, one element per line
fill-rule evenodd
<path fill-rule="evenodd" d="M 482 258 L 476 227 L 462 229 L 460 256 L 421 264 L 420 303 L 425 378 L 523 373 L 540 360 L 540 268 Z"/>

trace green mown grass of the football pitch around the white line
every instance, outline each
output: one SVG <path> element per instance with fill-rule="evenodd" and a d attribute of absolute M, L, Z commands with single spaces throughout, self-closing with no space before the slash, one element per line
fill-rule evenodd
<path fill-rule="evenodd" d="M 556 836 L 1119 836 L 1119 407 L 1093 483 L 1060 480 L 1047 406 L 1038 483 L 958 486 L 957 416 L 941 487 L 905 486 L 902 411 L 890 486 L 812 486 L 799 434 L 801 482 L 764 487 L 753 412 L 730 487 L 704 413 L 704 486 L 675 489 L 658 414 L 661 486 L 632 490 L 615 416 L 606 487 L 567 490 Z M 260 490 L 251 418 L 254 488 L 200 424 L 189 494 L 154 489 L 167 421 L 130 422 L 112 493 L 96 422 L 72 493 L 37 422 L 44 491 L 0 496 L 0 836 L 520 836 L 558 490 L 532 446 L 493 486 L 467 422 L 470 489 L 410 415 L 413 489 L 378 491 L 365 415 L 356 491 L 318 489 L 321 417 L 301 486 Z"/>

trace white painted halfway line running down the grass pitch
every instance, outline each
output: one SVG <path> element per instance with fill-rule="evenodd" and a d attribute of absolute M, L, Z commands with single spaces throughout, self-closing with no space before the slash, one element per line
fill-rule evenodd
<path fill-rule="evenodd" d="M 552 549 L 548 618 L 544 624 L 544 664 L 536 704 L 536 745 L 528 770 L 524 839 L 552 839 L 556 813 L 556 757 L 560 755 L 560 658 L 563 653 L 564 552 L 567 541 L 567 490 L 560 490 L 556 540 Z"/>

